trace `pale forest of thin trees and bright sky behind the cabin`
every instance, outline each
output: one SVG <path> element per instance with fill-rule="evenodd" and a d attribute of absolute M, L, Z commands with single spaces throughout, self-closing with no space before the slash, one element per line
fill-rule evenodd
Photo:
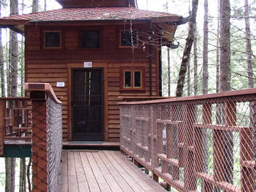
<path fill-rule="evenodd" d="M 230 0 L 231 90 L 252 88 L 256 83 L 256 0 L 248 0 L 248 6 L 246 6 L 246 1 Z M 16 12 L 10 11 L 10 3 L 12 2 L 17 3 Z M 207 6 L 205 2 L 207 2 Z M 198 3 L 196 33 L 190 60 L 186 63 L 187 70 L 182 96 L 220 92 L 220 14 L 218 2 L 217 0 L 201 0 Z M 192 1 L 189 0 L 138 0 L 138 7 L 144 10 L 169 12 L 188 17 L 191 13 L 191 3 Z M 54 0 L 1 0 L 0 4 L 1 17 L 8 16 L 11 13 L 22 14 L 61 8 Z M 246 8 L 248 8 L 248 12 L 246 12 Z M 14 35 L 17 38 L 13 38 L 9 29 L 1 29 L 2 97 L 24 95 L 24 38 L 16 33 Z M 187 36 L 188 24 L 183 24 L 177 28 L 173 42 L 179 47 L 177 49 L 163 47 L 162 78 L 164 96 L 175 96 Z M 12 54 L 13 49 L 17 51 L 15 54 Z M 20 188 L 20 170 L 22 170 L 20 167 L 24 163 L 26 167 L 28 159 L 23 163 L 20 159 L 13 162 L 16 167 L 15 191 L 24 191 Z M 0 159 L 0 191 L 6 189 L 4 188 L 6 184 L 5 170 L 4 159 Z M 25 187 L 28 188 L 28 185 Z"/>

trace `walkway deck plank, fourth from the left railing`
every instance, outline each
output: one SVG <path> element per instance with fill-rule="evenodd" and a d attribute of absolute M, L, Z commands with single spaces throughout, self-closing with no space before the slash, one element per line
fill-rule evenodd
<path fill-rule="evenodd" d="M 87 159 L 86 153 L 85 152 L 80 152 L 83 168 L 84 168 L 84 173 L 85 176 L 88 180 L 88 186 L 90 191 L 92 192 L 98 192 L 100 191 L 99 185 L 97 183 L 97 180 L 94 177 L 94 174 L 92 172 L 92 168 L 90 166 L 90 163 Z"/>

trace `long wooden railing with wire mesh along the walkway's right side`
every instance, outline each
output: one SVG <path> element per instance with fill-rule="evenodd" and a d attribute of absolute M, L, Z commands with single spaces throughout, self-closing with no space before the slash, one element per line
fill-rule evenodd
<path fill-rule="evenodd" d="M 256 190 L 256 89 L 120 103 L 120 148 L 179 191 Z"/>

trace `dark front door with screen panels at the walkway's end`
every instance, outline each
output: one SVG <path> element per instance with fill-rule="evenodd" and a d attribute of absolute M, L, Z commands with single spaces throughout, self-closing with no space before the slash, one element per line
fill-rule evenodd
<path fill-rule="evenodd" d="M 72 69 L 72 140 L 103 141 L 103 69 Z"/>

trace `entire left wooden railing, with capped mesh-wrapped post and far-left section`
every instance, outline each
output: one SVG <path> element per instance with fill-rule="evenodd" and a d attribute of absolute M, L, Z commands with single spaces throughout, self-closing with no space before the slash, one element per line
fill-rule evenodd
<path fill-rule="evenodd" d="M 0 156 L 32 157 L 33 192 L 58 191 L 61 101 L 49 83 L 26 83 L 25 90 L 29 97 L 0 99 Z M 9 151 L 9 145 L 19 151 L 19 156 Z M 21 151 L 25 149 L 26 156 Z"/>

